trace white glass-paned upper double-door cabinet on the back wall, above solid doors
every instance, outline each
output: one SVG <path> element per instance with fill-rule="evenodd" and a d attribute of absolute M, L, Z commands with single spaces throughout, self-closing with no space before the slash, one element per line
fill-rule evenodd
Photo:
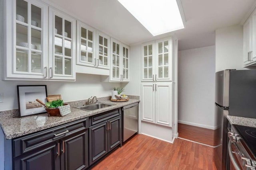
<path fill-rule="evenodd" d="M 142 81 L 172 81 L 172 39 L 142 44 Z"/>

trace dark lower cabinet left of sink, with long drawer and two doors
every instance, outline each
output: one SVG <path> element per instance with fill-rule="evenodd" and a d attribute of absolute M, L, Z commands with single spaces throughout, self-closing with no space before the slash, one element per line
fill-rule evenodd
<path fill-rule="evenodd" d="M 88 118 L 86 118 L 14 139 L 12 169 L 84 170 L 88 168 L 88 126 Z"/>

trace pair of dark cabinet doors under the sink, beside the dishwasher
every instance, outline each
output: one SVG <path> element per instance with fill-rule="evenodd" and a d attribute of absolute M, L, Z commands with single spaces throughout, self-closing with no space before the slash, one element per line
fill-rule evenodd
<path fill-rule="evenodd" d="M 89 164 L 121 144 L 121 115 L 89 127 Z"/>

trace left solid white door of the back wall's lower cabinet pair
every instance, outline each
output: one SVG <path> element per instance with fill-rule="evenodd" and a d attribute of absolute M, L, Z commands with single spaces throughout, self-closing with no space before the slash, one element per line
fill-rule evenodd
<path fill-rule="evenodd" d="M 143 83 L 142 92 L 142 120 L 155 122 L 155 84 Z"/>

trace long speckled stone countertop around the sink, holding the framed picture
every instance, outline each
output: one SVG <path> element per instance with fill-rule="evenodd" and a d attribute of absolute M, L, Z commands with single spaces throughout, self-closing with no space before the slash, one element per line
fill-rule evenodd
<path fill-rule="evenodd" d="M 0 125 L 2 126 L 4 135 L 6 139 L 13 139 L 23 135 L 28 135 L 37 131 L 42 131 L 51 127 L 56 127 L 58 125 L 63 125 L 72 121 L 90 117 L 105 111 L 120 108 L 140 102 L 139 96 L 129 96 L 129 101 L 127 102 L 111 102 L 110 97 L 98 98 L 99 102 L 115 104 L 114 106 L 105 107 L 102 109 L 96 109 L 94 111 L 84 111 L 81 109 L 76 109 L 72 106 L 81 106 L 86 100 L 79 100 L 76 102 L 64 102 L 71 106 L 71 113 L 61 116 L 49 116 L 47 113 L 31 115 L 27 117 L 18 117 L 18 109 L 8 110 L 0 112 Z"/>

